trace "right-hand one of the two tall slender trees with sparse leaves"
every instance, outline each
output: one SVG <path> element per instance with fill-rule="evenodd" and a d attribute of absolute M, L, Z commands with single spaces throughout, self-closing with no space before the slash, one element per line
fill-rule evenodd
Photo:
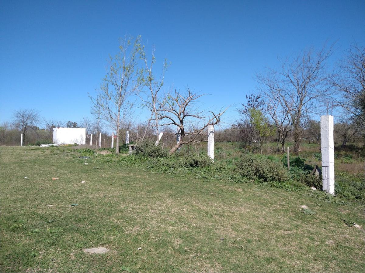
<path fill-rule="evenodd" d="M 158 139 L 158 135 L 160 134 L 159 132 L 159 118 L 158 118 L 158 92 L 161 90 L 162 86 L 164 85 L 164 77 L 165 77 L 165 73 L 167 71 L 168 68 L 168 63 L 167 60 L 165 59 L 164 64 L 162 66 L 162 72 L 160 75 L 160 78 L 157 79 L 157 77 L 154 75 L 153 73 L 153 66 L 156 62 L 156 58 L 155 58 L 155 46 L 153 46 L 153 50 L 151 53 L 151 58 L 148 59 L 148 56 L 146 54 L 145 51 L 145 46 L 142 45 L 142 40 L 139 38 L 138 39 L 139 44 L 140 44 L 140 54 L 141 54 L 141 59 L 143 60 L 143 64 L 144 64 L 144 69 L 143 69 L 143 84 L 145 86 L 145 88 L 147 89 L 147 99 L 143 100 L 143 104 L 144 106 L 151 111 L 151 119 L 154 116 L 154 126 L 156 129 L 156 136 L 157 136 L 157 143 L 159 141 Z M 150 119 L 150 120 L 151 120 Z M 150 121 L 148 123 L 148 125 L 150 124 Z M 146 132 L 146 131 L 145 131 Z M 143 135 L 143 138 L 145 137 L 145 134 Z M 142 138 L 142 140 L 143 140 Z"/>

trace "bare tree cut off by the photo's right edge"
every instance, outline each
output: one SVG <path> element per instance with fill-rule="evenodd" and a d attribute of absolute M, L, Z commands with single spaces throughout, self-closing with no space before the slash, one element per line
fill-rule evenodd
<path fill-rule="evenodd" d="M 365 135 L 365 47 L 352 44 L 339 67 L 334 85 L 342 95 L 338 104 L 347 116 L 344 124 L 356 124 L 358 132 Z"/>

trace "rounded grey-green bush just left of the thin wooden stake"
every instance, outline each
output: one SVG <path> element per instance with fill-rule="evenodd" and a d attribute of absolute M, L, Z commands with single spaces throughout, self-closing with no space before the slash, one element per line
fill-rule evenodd
<path fill-rule="evenodd" d="M 250 180 L 281 183 L 290 178 L 287 169 L 281 163 L 273 162 L 267 158 L 243 155 L 236 165 L 238 172 Z"/>

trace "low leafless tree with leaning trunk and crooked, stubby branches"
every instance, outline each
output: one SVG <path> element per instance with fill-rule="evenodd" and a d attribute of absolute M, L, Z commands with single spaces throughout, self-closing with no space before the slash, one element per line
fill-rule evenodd
<path fill-rule="evenodd" d="M 194 93 L 189 88 L 186 92 L 174 90 L 167 94 L 159 104 L 158 118 L 163 121 L 161 126 L 176 126 L 180 134 L 180 142 L 172 147 L 170 154 L 184 144 L 199 141 L 199 137 L 205 132 L 208 125 L 216 125 L 221 122 L 220 118 L 227 108 L 217 114 L 212 111 L 200 111 L 196 103 L 201 96 L 203 95 Z M 177 135 L 177 133 L 173 135 Z"/>

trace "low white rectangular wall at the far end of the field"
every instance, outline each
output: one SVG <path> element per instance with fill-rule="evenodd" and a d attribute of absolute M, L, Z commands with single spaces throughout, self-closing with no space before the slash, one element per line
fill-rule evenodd
<path fill-rule="evenodd" d="M 53 144 L 84 144 L 86 128 L 53 128 Z"/>

